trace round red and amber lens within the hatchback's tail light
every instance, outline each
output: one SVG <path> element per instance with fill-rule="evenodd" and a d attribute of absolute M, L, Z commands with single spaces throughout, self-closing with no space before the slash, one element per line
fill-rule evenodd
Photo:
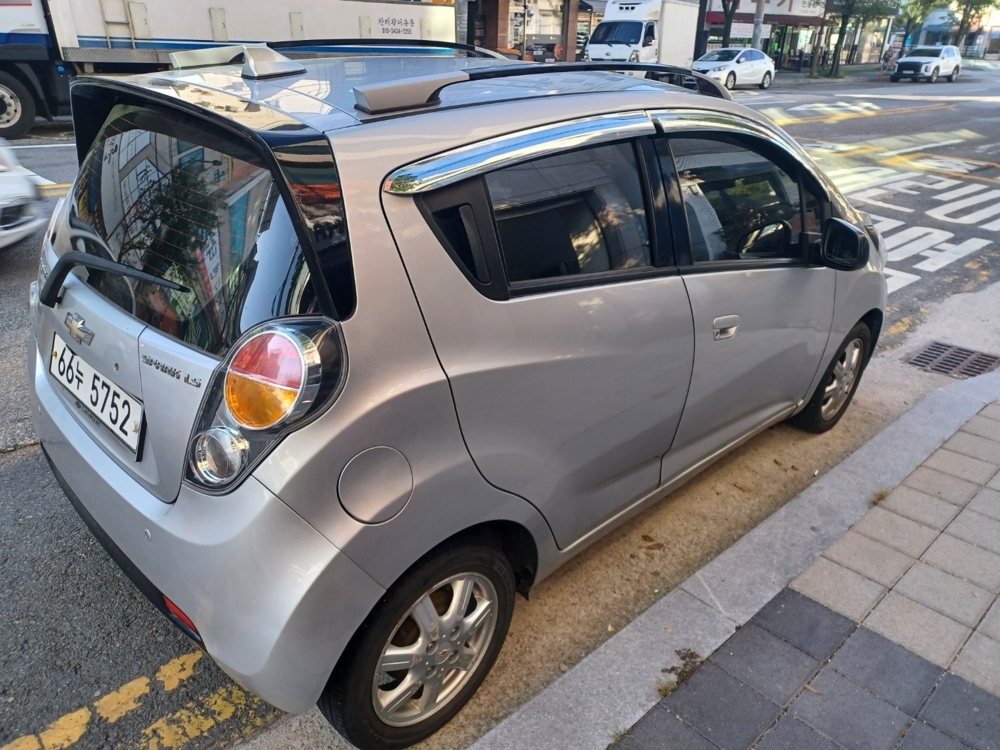
<path fill-rule="evenodd" d="M 254 336 L 233 356 L 226 373 L 226 405 L 240 425 L 273 427 L 295 408 L 305 374 L 299 347 L 282 333 Z"/>

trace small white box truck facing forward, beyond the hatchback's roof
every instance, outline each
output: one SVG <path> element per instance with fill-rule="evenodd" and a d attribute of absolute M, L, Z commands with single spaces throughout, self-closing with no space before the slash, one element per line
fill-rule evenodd
<path fill-rule="evenodd" d="M 697 32 L 698 0 L 611 0 L 587 40 L 584 60 L 690 68 Z"/>

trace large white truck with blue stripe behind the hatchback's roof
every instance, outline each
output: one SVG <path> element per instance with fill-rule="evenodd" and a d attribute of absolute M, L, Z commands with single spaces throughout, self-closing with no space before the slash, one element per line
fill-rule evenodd
<path fill-rule="evenodd" d="M 165 68 L 183 49 L 294 39 L 455 41 L 455 6 L 393 0 L 0 2 L 0 136 L 69 113 L 77 73 Z"/>

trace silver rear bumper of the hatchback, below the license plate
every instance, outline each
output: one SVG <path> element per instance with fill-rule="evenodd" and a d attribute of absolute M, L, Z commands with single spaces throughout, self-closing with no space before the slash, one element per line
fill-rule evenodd
<path fill-rule="evenodd" d="M 28 359 L 42 447 L 98 540 L 161 611 L 165 595 L 191 618 L 236 682 L 309 709 L 383 589 L 252 477 L 229 495 L 183 486 L 161 502 L 80 427 L 34 337 Z"/>

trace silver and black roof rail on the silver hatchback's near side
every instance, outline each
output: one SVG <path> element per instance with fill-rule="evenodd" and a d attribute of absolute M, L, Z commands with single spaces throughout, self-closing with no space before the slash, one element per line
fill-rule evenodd
<path fill-rule="evenodd" d="M 453 83 L 484 81 L 491 78 L 543 75 L 545 73 L 573 73 L 580 71 L 645 72 L 647 78 L 666 79 L 667 83 L 684 86 L 684 79 L 692 79 L 698 93 L 719 99 L 732 100 L 729 91 L 717 81 L 687 68 L 659 63 L 518 63 L 516 65 L 488 66 L 440 73 L 418 78 L 405 78 L 392 83 L 354 88 L 355 109 L 365 114 L 386 114 L 407 109 L 430 107 L 440 101 L 441 90 Z M 687 88 L 686 86 L 684 86 Z"/>

